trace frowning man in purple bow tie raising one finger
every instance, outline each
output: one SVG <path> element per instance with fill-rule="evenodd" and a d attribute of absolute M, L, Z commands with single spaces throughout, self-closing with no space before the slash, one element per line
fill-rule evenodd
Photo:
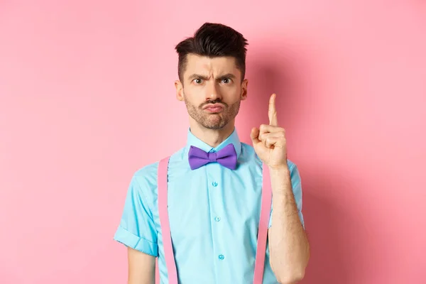
<path fill-rule="evenodd" d="M 287 284 L 305 274 L 310 249 L 300 175 L 287 159 L 275 94 L 269 124 L 251 131 L 253 146 L 241 143 L 234 127 L 247 98 L 246 45 L 234 29 L 205 23 L 176 46 L 187 145 L 131 179 L 114 236 L 128 247 L 130 284 L 154 283 L 156 257 L 161 283 Z M 264 225 L 261 202 L 268 206 Z M 261 226 L 266 251 L 258 249 Z"/>

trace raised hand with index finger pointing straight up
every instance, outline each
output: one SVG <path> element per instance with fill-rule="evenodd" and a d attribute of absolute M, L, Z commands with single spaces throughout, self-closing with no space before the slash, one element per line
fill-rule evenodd
<path fill-rule="evenodd" d="M 270 168 L 287 167 L 287 143 L 285 130 L 278 126 L 277 111 L 275 109 L 275 94 L 269 99 L 269 125 L 262 124 L 259 129 L 251 129 L 251 141 L 254 151 L 263 163 Z"/>

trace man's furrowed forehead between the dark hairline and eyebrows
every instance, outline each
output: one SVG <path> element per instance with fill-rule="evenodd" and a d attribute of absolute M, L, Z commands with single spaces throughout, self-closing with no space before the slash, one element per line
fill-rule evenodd
<path fill-rule="evenodd" d="M 224 75 L 231 73 L 236 77 L 240 75 L 236 60 L 233 57 L 215 57 L 200 56 L 195 54 L 187 55 L 187 65 L 185 68 L 185 77 L 192 74 L 199 75 Z"/>

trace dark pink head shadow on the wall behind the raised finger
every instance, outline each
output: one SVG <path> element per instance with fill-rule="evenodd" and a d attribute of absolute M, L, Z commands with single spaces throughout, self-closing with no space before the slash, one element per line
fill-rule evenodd
<path fill-rule="evenodd" d="M 291 62 L 294 58 L 286 58 L 276 50 L 279 49 L 260 52 L 249 50 L 246 62 L 248 98 L 241 103 L 241 113 L 236 119 L 236 125 L 241 129 L 239 132 L 248 134 L 241 140 L 249 144 L 251 127 L 269 123 L 268 102 L 271 94 L 277 94 L 275 104 L 278 124 L 289 130 L 297 122 L 291 121 L 293 117 L 298 117 L 292 112 L 295 110 L 292 106 L 303 92 L 301 87 L 304 84 L 300 81 L 302 77 L 297 75 L 297 65 Z M 241 124 L 243 120 L 244 123 Z"/>

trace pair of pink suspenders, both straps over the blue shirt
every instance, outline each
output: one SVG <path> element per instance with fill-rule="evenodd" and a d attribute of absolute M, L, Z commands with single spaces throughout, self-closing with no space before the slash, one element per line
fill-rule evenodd
<path fill-rule="evenodd" d="M 170 157 L 163 158 L 160 160 L 158 165 L 158 214 L 160 216 L 160 226 L 163 234 L 165 265 L 167 266 L 168 280 L 170 284 L 178 284 L 178 273 L 176 271 L 175 256 L 173 254 L 173 246 L 170 236 L 170 224 L 168 221 L 167 187 L 169 158 Z M 272 187 L 271 178 L 269 177 L 269 168 L 268 165 L 263 164 L 261 216 L 258 228 L 258 242 L 256 249 L 256 261 L 254 265 L 253 284 L 261 284 L 263 282 L 263 268 L 265 264 L 266 239 L 268 238 L 268 224 L 271 214 L 271 202 Z"/>

